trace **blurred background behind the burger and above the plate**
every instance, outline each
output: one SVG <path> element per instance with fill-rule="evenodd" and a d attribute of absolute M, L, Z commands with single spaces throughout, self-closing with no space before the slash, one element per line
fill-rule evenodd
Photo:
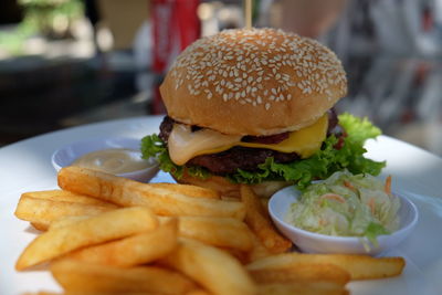
<path fill-rule="evenodd" d="M 337 105 L 442 156 L 442 0 L 254 0 L 253 25 L 317 39 L 341 59 Z M 0 146 L 164 114 L 177 54 L 244 25 L 242 0 L 1 0 Z"/>

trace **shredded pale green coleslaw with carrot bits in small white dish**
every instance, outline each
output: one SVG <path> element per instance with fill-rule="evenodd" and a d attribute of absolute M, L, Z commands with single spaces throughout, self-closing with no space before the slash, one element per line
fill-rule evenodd
<path fill-rule="evenodd" d="M 391 177 L 383 182 L 344 170 L 308 186 L 285 220 L 316 233 L 365 236 L 377 246 L 378 235 L 399 228 L 399 198 L 391 193 Z"/>

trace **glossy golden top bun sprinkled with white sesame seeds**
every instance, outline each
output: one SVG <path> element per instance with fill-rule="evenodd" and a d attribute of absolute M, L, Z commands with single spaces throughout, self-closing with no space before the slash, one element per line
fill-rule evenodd
<path fill-rule="evenodd" d="M 313 124 L 347 93 L 336 55 L 274 29 L 227 30 L 176 60 L 160 87 L 173 119 L 232 135 L 273 135 Z"/>

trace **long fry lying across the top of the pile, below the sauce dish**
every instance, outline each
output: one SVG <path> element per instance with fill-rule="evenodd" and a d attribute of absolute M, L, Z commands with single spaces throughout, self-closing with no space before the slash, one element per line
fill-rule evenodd
<path fill-rule="evenodd" d="M 223 217 L 240 220 L 245 215 L 242 202 L 192 198 L 165 188 L 74 166 L 60 170 L 59 186 L 123 207 L 146 206 L 159 215 Z"/>

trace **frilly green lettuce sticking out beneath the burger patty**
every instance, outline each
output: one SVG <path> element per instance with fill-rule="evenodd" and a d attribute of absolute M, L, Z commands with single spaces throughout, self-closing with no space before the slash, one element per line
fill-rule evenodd
<path fill-rule="evenodd" d="M 373 161 L 364 157 L 367 151 L 364 144 L 369 138 L 381 134 L 368 119 L 358 118 L 350 114 L 339 115 L 339 124 L 347 136 L 340 149 L 335 149 L 338 139 L 332 135 L 326 138 L 320 150 L 307 159 L 288 164 L 277 164 L 273 158 L 267 158 L 259 165 L 256 171 L 238 169 L 235 173 L 228 175 L 228 179 L 236 183 L 260 183 L 267 180 L 285 180 L 303 189 L 312 180 L 325 179 L 335 171 L 347 169 L 350 172 L 370 173 L 377 176 L 386 166 L 385 162 Z M 165 143 L 157 135 L 146 136 L 141 139 L 144 158 L 156 157 L 160 169 L 171 172 L 178 179 L 182 176 L 183 167 L 175 165 L 169 157 Z M 201 167 L 188 167 L 187 172 L 193 177 L 208 178 L 210 172 Z"/>

